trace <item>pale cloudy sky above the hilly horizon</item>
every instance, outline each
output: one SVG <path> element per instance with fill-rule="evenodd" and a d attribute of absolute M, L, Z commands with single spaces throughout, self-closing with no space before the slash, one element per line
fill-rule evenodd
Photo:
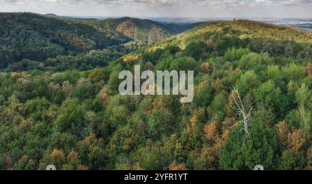
<path fill-rule="evenodd" d="M 103 17 L 312 18 L 312 0 L 0 0 L 0 12 Z"/>

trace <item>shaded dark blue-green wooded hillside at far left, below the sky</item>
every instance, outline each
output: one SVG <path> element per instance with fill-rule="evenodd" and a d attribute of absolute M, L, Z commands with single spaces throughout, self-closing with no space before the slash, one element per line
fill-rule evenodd
<path fill-rule="evenodd" d="M 128 41 L 121 34 L 99 31 L 78 21 L 33 13 L 0 13 L 0 67 L 24 58 L 44 61 Z"/>

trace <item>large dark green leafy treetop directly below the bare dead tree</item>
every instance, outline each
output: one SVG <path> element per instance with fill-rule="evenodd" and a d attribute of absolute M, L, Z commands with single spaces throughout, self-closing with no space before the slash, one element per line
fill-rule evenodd
<path fill-rule="evenodd" d="M 259 163 L 267 169 L 276 169 L 277 138 L 272 129 L 257 120 L 250 126 L 249 138 L 240 129 L 241 126 L 234 129 L 225 143 L 220 169 L 254 169 Z"/>

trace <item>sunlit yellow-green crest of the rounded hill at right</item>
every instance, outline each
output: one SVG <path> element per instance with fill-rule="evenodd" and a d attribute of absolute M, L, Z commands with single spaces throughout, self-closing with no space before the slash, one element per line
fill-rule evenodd
<path fill-rule="evenodd" d="M 312 34 L 304 30 L 250 20 L 209 22 L 186 31 L 177 37 L 178 40 L 182 41 L 183 39 L 204 36 L 211 32 L 220 33 L 227 37 L 238 37 L 239 39 L 258 38 L 312 43 Z"/>

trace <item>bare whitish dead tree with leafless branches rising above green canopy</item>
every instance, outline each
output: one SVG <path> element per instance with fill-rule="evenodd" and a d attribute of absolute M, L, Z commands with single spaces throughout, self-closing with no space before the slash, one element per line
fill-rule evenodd
<path fill-rule="evenodd" d="M 239 116 L 243 116 L 243 120 L 236 122 L 232 127 L 243 122 L 244 127 L 241 130 L 245 131 L 245 134 L 246 134 L 245 138 L 244 138 L 244 143 L 245 143 L 245 140 L 250 136 L 250 133 L 248 131 L 248 122 L 250 120 L 252 108 L 250 108 L 249 111 L 245 110 L 245 107 L 243 105 L 243 101 L 241 100 L 241 95 L 239 95 L 239 91 L 237 89 L 234 89 L 234 88 L 232 89 L 232 98 L 236 104 L 236 113 Z"/>

